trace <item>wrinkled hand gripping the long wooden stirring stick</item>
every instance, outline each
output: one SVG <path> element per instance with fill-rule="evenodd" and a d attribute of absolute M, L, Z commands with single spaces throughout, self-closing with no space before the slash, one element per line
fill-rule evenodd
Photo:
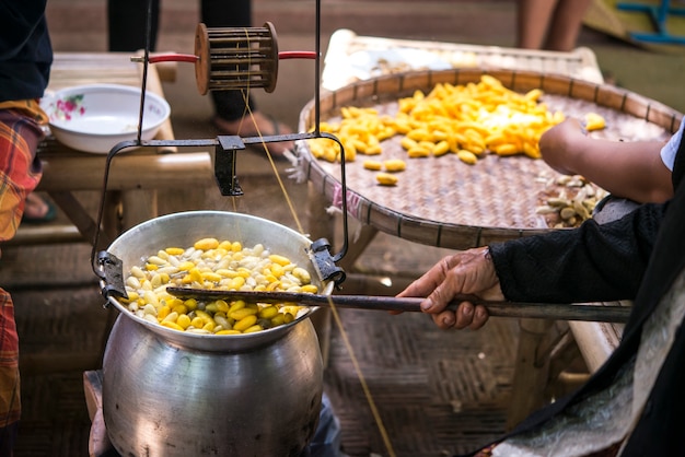
<path fill-rule="evenodd" d="M 457 294 L 481 300 L 502 301 L 495 265 L 487 247 L 479 247 L 444 257 L 426 274 L 414 281 L 397 296 L 425 296 L 421 310 L 431 315 L 442 329 L 471 328 L 477 330 L 488 320 L 485 306 L 460 303 L 456 312 L 446 309 Z"/>

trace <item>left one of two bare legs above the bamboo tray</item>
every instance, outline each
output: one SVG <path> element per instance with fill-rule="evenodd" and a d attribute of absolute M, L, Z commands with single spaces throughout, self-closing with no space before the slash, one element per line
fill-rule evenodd
<path fill-rule="evenodd" d="M 516 46 L 542 49 L 557 0 L 519 0 Z"/>

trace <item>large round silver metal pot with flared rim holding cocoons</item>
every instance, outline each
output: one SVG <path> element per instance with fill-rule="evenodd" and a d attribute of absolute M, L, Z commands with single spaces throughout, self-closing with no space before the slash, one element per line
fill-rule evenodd
<path fill-rule="evenodd" d="M 207 236 L 262 243 L 311 266 L 305 236 L 217 211 L 153 219 L 107 250 L 126 273 L 151 253 Z M 323 362 L 309 315 L 256 333 L 207 336 L 148 323 L 108 300 L 121 313 L 103 361 L 103 414 L 121 455 L 297 456 L 304 449 L 323 395 Z"/>

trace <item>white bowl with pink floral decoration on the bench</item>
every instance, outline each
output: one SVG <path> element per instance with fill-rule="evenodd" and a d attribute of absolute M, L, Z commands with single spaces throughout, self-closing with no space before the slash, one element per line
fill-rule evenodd
<path fill-rule="evenodd" d="M 141 90 L 119 84 L 80 85 L 46 94 L 40 106 L 50 131 L 69 148 L 104 154 L 138 136 Z M 146 93 L 141 140 L 154 138 L 171 108 L 162 97 Z"/>

